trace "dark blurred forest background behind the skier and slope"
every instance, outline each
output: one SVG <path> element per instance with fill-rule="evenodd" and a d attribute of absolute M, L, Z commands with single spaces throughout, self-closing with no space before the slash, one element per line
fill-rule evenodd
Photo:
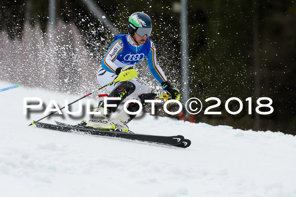
<path fill-rule="evenodd" d="M 228 125 L 244 130 L 270 130 L 296 134 L 295 1 L 188 0 L 190 90 L 187 93 L 184 93 L 181 81 L 182 40 L 179 1 L 96 0 L 95 2 L 119 33 L 127 33 L 128 17 L 133 12 L 144 11 L 151 17 L 153 30 L 150 39 L 156 45 L 158 61 L 168 79 L 177 85 L 182 94 L 188 94 L 189 98 L 203 100 L 205 105 L 203 111 L 196 116 L 191 116 L 194 122 Z M 83 81 L 75 77 L 72 77 L 73 81 L 70 80 L 70 83 L 75 86 L 85 82 L 84 88 L 88 89 L 86 81 L 96 83 L 96 70 L 113 40 L 113 34 L 88 10 L 82 0 L 56 0 L 55 10 L 55 21 L 74 25 L 79 31 L 86 53 L 91 54 L 89 56 L 91 64 L 84 66 L 87 68 L 85 71 L 87 75 Z M 26 23 L 32 28 L 38 27 L 42 39 L 46 39 L 50 26 L 48 0 L 0 1 L 0 33 L 5 33 L 7 40 L 10 40 L 9 43 L 15 43 L 16 40 L 23 43 L 24 39 L 30 42 L 27 37 L 24 37 Z M 61 29 L 56 30 L 55 33 L 63 36 Z M 6 43 L 8 43 L 7 40 Z M 2 46 L 4 44 L 2 41 Z M 64 40 L 64 44 L 67 45 L 67 40 Z M 44 88 L 52 85 L 50 83 L 55 83 L 54 80 L 47 80 L 46 83 L 36 84 L 31 78 L 30 83 L 28 80 L 20 82 L 23 78 L 9 75 L 10 68 L 24 72 L 29 68 L 18 67 L 22 65 L 21 62 L 11 65 L 4 49 L 0 52 L 0 80 Z M 18 55 L 13 54 L 10 58 L 14 59 L 16 56 Z M 25 59 L 28 61 L 30 57 Z M 62 73 L 63 76 L 57 77 L 63 78 L 65 74 L 75 75 L 77 72 L 84 72 L 84 69 L 75 70 L 75 61 L 78 64 L 79 59 L 75 61 L 67 57 L 64 59 L 66 60 L 59 64 L 67 63 L 70 68 L 69 70 L 58 68 L 57 75 Z M 44 66 L 40 62 L 35 64 L 39 72 L 42 72 L 40 68 L 42 65 Z M 145 62 L 140 65 L 142 66 L 140 66 L 140 73 L 141 69 L 143 73 L 147 71 Z M 77 82 L 79 80 L 80 83 Z M 75 89 L 74 85 L 69 88 L 71 84 L 69 85 L 69 81 L 66 80 L 60 85 L 75 90 L 70 91 L 72 94 L 83 92 Z M 152 85 L 158 84 L 153 82 Z M 60 90 L 68 92 L 67 88 Z M 212 110 L 222 111 L 222 115 L 203 114 L 207 106 L 215 104 L 215 101 L 209 103 L 204 101 L 210 97 L 217 97 L 222 101 L 219 107 Z M 231 115 L 225 111 L 224 103 L 231 97 L 237 97 L 243 101 L 243 111 L 237 115 Z M 252 97 L 251 115 L 248 114 L 246 101 L 249 97 Z M 256 100 L 260 97 L 269 97 L 273 100 L 272 114 L 256 115 Z M 238 103 L 232 101 L 230 104 L 232 111 L 236 111 Z"/>

